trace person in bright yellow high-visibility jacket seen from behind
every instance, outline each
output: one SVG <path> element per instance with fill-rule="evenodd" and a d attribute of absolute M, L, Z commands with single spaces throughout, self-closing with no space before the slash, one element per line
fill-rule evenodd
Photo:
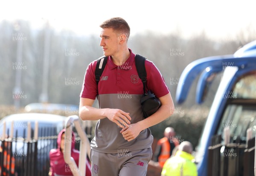
<path fill-rule="evenodd" d="M 189 141 L 181 142 L 175 156 L 167 159 L 163 165 L 161 176 L 198 176 L 192 151 Z"/>

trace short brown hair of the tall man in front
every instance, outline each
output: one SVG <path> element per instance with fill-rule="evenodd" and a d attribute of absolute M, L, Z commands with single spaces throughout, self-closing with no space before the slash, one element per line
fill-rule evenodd
<path fill-rule="evenodd" d="M 109 20 L 105 20 L 99 27 L 101 28 L 113 28 L 113 30 L 120 33 L 125 33 L 126 37 L 130 36 L 130 26 L 121 17 L 113 17 Z"/>

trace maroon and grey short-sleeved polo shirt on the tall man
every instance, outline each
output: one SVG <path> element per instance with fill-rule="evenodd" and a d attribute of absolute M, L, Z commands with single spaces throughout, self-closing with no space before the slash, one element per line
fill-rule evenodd
<path fill-rule="evenodd" d="M 131 52 L 131 49 L 129 49 Z M 87 67 L 84 84 L 80 96 L 95 99 L 97 96 L 99 108 L 114 108 L 130 113 L 131 124 L 143 120 L 140 98 L 143 95 L 143 83 L 138 76 L 134 62 L 134 53 L 125 63 L 114 64 L 111 56 L 97 87 L 95 69 L 97 60 Z M 145 61 L 147 72 L 147 87 L 160 98 L 169 93 L 162 75 L 151 61 Z M 129 151 L 151 148 L 153 136 L 149 129 L 140 132 L 139 136 L 128 142 L 119 133 L 121 127 L 108 118 L 99 120 L 96 124 L 95 137 L 91 141 L 92 150 L 103 153 L 118 153 L 120 149 Z"/>

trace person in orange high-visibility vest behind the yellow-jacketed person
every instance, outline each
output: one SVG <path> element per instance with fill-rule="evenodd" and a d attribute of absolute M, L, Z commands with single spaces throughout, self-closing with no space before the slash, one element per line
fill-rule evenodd
<path fill-rule="evenodd" d="M 172 127 L 167 127 L 164 130 L 164 137 L 157 141 L 157 147 L 154 154 L 154 161 L 158 166 L 163 167 L 163 164 L 172 155 L 172 150 L 179 145 L 179 140 L 175 137 L 175 130 Z"/>

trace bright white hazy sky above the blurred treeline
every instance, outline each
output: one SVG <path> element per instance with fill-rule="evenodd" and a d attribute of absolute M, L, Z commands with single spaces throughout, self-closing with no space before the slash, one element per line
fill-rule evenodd
<path fill-rule="evenodd" d="M 46 21 L 57 31 L 78 35 L 100 33 L 100 23 L 124 18 L 131 36 L 152 31 L 192 37 L 205 32 L 211 38 L 235 38 L 250 25 L 256 29 L 254 0 L 4 0 L 0 22 L 29 21 L 40 29 Z"/>

